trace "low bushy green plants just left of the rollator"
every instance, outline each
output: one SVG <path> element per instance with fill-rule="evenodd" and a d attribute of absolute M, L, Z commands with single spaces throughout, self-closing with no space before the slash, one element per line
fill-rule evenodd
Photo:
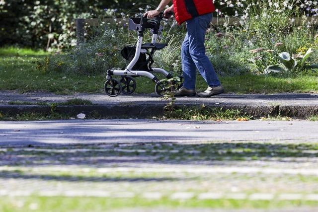
<path fill-rule="evenodd" d="M 71 72 L 92 76 L 123 66 L 119 48 L 122 46 L 122 35 L 118 31 L 107 30 L 101 37 L 68 52 L 46 57 L 44 61 L 38 62 L 37 69 L 42 72 Z"/>

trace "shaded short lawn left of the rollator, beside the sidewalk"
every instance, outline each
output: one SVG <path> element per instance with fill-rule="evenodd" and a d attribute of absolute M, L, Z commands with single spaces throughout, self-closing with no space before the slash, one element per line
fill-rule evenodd
<path fill-rule="evenodd" d="M 43 56 L 0 57 L 0 90 L 49 91 L 60 94 L 100 92 L 105 76 L 79 76 L 36 69 Z"/>

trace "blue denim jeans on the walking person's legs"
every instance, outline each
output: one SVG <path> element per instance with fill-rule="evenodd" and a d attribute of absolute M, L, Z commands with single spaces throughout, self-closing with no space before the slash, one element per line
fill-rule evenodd
<path fill-rule="evenodd" d="M 181 48 L 183 87 L 195 89 L 196 69 L 210 87 L 217 87 L 221 82 L 205 52 L 205 33 L 212 20 L 212 13 L 200 15 L 186 21 L 187 34 Z"/>

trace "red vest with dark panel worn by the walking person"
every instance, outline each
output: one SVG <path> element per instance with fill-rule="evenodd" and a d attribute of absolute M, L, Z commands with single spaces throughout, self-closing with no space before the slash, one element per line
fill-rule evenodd
<path fill-rule="evenodd" d="M 179 24 L 215 11 L 213 0 L 173 0 L 175 19 Z"/>

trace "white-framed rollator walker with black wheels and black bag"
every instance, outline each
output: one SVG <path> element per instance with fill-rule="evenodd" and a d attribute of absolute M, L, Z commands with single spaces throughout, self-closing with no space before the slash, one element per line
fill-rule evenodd
<path fill-rule="evenodd" d="M 167 46 L 167 44 L 156 43 L 161 20 L 164 18 L 162 12 L 156 16 L 155 19 L 149 19 L 143 15 L 141 17 L 129 18 L 129 30 L 138 32 L 137 44 L 136 46 L 126 46 L 121 51 L 122 56 L 130 62 L 125 70 L 107 71 L 107 80 L 104 84 L 104 90 L 109 96 L 115 97 L 120 93 L 133 93 L 136 89 L 136 80 L 134 77 L 137 76 L 144 76 L 152 79 L 156 83 L 156 94 L 160 97 L 173 90 L 176 82 L 174 80 L 167 80 L 173 78 L 172 74 L 163 69 L 152 68 L 152 65 L 155 62 L 153 59 L 155 52 Z M 151 43 L 143 44 L 144 32 L 146 29 L 152 29 L 153 36 Z M 166 79 L 159 80 L 154 73 L 162 74 Z M 121 76 L 121 79 L 114 79 L 112 78 L 113 75 L 119 75 Z"/>

